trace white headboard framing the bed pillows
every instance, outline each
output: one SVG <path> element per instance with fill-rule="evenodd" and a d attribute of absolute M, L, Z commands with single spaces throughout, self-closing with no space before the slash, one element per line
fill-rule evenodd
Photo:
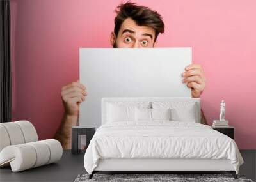
<path fill-rule="evenodd" d="M 109 98 L 102 98 L 101 100 L 101 124 L 103 125 L 107 121 L 107 103 L 111 102 L 193 102 L 195 103 L 195 112 L 196 112 L 196 123 L 201 123 L 200 121 L 200 98 L 172 98 L 172 97 L 109 97 Z M 151 107 L 151 104 L 150 104 Z"/>

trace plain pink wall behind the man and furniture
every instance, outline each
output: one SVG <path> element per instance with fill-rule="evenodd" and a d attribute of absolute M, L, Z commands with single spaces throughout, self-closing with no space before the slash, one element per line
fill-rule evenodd
<path fill-rule="evenodd" d="M 134 1 L 159 11 L 158 47 L 193 47 L 207 77 L 202 108 L 217 119 L 220 101 L 240 149 L 256 149 L 256 1 Z M 120 1 L 11 0 L 13 121 L 28 119 L 40 139 L 61 122 L 61 86 L 79 78 L 79 47 L 110 47 Z"/>

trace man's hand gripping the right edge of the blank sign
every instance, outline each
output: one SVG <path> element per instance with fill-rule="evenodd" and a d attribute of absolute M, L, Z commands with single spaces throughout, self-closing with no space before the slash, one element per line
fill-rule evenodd
<path fill-rule="evenodd" d="M 206 80 L 202 66 L 199 64 L 186 66 L 182 77 L 184 77 L 182 82 L 187 83 L 187 86 L 192 89 L 192 97 L 199 98 L 204 90 Z"/>

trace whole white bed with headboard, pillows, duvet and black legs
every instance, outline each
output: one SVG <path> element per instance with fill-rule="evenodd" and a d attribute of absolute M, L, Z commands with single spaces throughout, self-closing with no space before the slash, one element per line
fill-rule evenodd
<path fill-rule="evenodd" d="M 99 171 L 227 171 L 243 158 L 230 137 L 200 123 L 199 98 L 102 98 L 102 126 L 84 155 Z"/>

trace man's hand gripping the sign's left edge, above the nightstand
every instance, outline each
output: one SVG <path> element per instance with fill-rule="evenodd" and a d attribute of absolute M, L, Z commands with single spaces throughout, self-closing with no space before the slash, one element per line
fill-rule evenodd
<path fill-rule="evenodd" d="M 78 116 L 79 105 L 85 100 L 86 87 L 79 80 L 61 88 L 61 98 L 67 116 Z"/>

